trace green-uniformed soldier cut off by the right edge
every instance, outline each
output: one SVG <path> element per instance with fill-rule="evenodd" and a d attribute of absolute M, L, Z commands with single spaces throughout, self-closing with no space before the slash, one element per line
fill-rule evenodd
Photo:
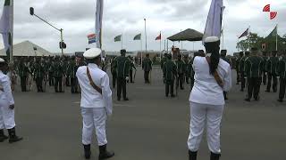
<path fill-rule="evenodd" d="M 280 90 L 278 101 L 282 102 L 285 97 L 286 90 L 286 51 L 283 52 L 282 60 L 279 61 L 277 70 L 280 76 Z"/>

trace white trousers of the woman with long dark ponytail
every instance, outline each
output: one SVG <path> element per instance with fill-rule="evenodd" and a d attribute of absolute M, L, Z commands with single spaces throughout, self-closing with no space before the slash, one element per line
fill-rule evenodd
<path fill-rule="evenodd" d="M 223 116 L 223 105 L 206 105 L 190 102 L 190 125 L 188 147 L 198 151 L 206 127 L 208 148 L 214 154 L 221 153 L 220 126 Z"/>

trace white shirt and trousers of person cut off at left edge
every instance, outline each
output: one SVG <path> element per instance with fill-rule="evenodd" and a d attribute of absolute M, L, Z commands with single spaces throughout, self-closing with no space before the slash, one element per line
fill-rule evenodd
<path fill-rule="evenodd" d="M 0 71 L 0 130 L 12 129 L 15 127 L 14 109 L 9 106 L 14 104 L 9 76 Z"/>

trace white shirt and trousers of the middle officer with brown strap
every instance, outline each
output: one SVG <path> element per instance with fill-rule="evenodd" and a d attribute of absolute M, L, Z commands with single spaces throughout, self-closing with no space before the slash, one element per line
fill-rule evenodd
<path fill-rule="evenodd" d="M 97 92 L 89 83 L 87 67 L 78 68 L 78 77 L 81 88 L 81 115 L 83 117 L 82 144 L 89 145 L 93 129 L 96 128 L 99 146 L 107 144 L 105 124 L 107 116 L 112 115 L 113 100 L 109 86 L 109 77 L 96 64 L 88 64 L 90 76 L 94 83 L 102 89 L 102 94 Z"/>

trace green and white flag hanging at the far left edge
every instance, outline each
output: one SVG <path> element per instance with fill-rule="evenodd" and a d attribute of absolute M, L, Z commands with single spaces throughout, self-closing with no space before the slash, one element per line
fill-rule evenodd
<path fill-rule="evenodd" d="M 10 3 L 10 0 L 5 0 L 2 17 L 0 19 L 0 33 L 3 36 L 4 48 L 8 59 L 10 57 L 10 51 L 12 47 L 12 32 L 13 32 L 12 14 L 13 14 L 12 4 Z"/>

